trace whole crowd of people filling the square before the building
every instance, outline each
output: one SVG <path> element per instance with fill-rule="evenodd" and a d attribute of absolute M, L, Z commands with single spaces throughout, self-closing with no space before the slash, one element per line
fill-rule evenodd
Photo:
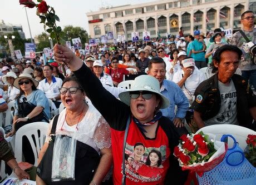
<path fill-rule="evenodd" d="M 256 43 L 254 13 L 244 12 L 241 22 Z M 256 58 L 246 43 L 240 32 L 226 38 L 220 28 L 195 29 L 184 36 L 181 28 L 179 36 L 102 44 L 86 54 L 56 45 L 47 64 L 7 58 L 0 63 L 0 111 L 15 101 L 7 137 L 25 124 L 49 122 L 50 107 L 63 103 L 40 152 L 38 184 L 184 184 L 188 173 L 173 156 L 181 134 L 213 124 L 256 129 Z M 130 88 L 121 88 L 128 80 Z M 52 135 L 63 153 L 51 150 Z M 75 157 L 65 153 L 72 138 Z M 23 154 L 33 164 L 31 150 Z"/>

